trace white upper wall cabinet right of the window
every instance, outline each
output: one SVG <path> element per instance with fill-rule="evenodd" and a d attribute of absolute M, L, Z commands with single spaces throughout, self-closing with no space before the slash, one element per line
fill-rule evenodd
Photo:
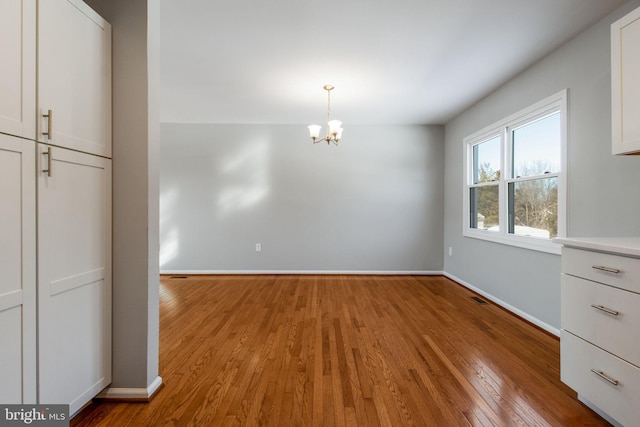
<path fill-rule="evenodd" d="M 640 153 L 640 8 L 611 25 L 613 154 Z"/>

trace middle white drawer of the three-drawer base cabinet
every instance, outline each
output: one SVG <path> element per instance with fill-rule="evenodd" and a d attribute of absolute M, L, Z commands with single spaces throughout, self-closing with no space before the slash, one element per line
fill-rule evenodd
<path fill-rule="evenodd" d="M 563 274 L 561 305 L 562 329 L 640 366 L 640 294 Z"/>

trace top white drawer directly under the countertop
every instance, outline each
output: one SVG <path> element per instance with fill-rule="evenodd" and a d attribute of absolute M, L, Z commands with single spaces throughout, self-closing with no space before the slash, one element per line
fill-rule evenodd
<path fill-rule="evenodd" d="M 640 259 L 562 248 L 562 272 L 640 293 Z"/>

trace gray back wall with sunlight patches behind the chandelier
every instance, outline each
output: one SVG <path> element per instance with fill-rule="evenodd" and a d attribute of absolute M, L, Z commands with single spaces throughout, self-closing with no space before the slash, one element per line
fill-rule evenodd
<path fill-rule="evenodd" d="M 441 271 L 443 127 L 345 129 L 162 124 L 161 270 Z"/>

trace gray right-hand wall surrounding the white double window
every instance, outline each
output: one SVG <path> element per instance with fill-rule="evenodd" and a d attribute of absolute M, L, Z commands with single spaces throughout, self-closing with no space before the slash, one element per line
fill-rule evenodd
<path fill-rule="evenodd" d="M 567 235 L 640 235 L 640 158 L 611 155 L 609 41 L 610 24 L 639 5 L 627 3 L 445 127 L 445 271 L 555 328 L 559 256 L 462 236 L 462 140 L 568 88 Z"/>

